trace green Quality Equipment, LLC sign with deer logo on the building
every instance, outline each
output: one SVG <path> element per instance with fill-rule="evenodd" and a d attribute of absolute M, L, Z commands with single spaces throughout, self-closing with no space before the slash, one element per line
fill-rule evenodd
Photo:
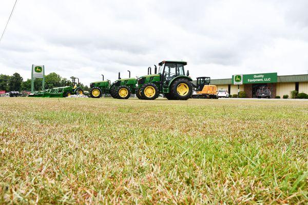
<path fill-rule="evenodd" d="M 232 76 L 232 84 L 234 85 L 262 83 L 277 83 L 277 73 L 258 73 Z"/>

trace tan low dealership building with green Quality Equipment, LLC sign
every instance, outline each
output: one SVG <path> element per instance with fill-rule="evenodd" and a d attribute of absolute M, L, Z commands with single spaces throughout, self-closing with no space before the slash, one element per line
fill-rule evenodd
<path fill-rule="evenodd" d="M 227 90 L 229 94 L 238 94 L 245 91 L 246 96 L 256 97 L 260 87 L 271 90 L 272 98 L 283 95 L 291 96 L 291 91 L 308 94 L 308 74 L 303 75 L 277 75 L 277 73 L 236 74 L 227 79 L 211 79 L 211 85 L 217 90 Z M 290 97 L 289 97 L 290 98 Z"/>

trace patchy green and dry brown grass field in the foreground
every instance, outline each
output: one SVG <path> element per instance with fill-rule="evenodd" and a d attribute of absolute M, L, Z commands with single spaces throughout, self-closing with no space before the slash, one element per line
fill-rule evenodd
<path fill-rule="evenodd" d="M 0 98 L 0 203 L 308 203 L 308 101 Z"/>

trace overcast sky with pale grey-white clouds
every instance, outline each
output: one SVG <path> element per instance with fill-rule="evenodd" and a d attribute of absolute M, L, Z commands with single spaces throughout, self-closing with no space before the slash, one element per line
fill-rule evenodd
<path fill-rule="evenodd" d="M 15 0 L 0 1 L 2 32 Z M 190 76 L 308 70 L 308 1 L 18 0 L 0 42 L 0 73 L 101 79 L 147 74 L 165 59 Z"/>

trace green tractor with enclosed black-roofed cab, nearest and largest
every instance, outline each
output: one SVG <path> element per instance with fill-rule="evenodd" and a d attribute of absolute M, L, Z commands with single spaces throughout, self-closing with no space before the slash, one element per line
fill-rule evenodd
<path fill-rule="evenodd" d="M 148 75 L 138 78 L 136 95 L 139 99 L 153 100 L 159 94 L 167 99 L 187 100 L 192 94 L 192 79 L 185 75 L 185 61 L 164 60 L 159 63 L 159 70 L 155 66 L 155 74 L 151 74 L 151 67 L 148 68 Z"/>

